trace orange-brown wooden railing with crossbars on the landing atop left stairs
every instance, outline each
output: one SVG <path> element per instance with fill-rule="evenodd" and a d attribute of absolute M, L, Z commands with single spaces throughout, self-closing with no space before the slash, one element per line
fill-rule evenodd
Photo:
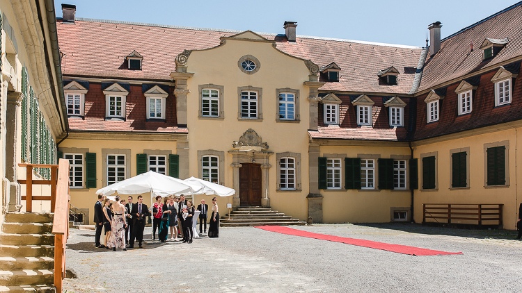
<path fill-rule="evenodd" d="M 25 200 L 26 212 L 33 211 L 33 201 L 51 201 L 51 212 L 54 212 L 54 204 L 56 203 L 56 176 L 58 175 L 58 165 L 43 164 L 18 164 L 20 167 L 26 167 L 26 179 L 18 180 L 18 183 L 26 185 L 26 195 L 22 195 L 22 201 Z M 51 168 L 51 180 L 37 179 L 33 180 L 34 168 Z M 68 169 L 69 173 L 69 169 Z M 33 185 L 51 185 L 51 195 L 33 196 Z"/>

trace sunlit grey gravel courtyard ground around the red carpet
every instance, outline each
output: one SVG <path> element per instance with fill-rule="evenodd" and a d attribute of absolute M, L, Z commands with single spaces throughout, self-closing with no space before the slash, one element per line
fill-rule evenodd
<path fill-rule="evenodd" d="M 72 229 L 67 292 L 522 292 L 515 231 L 418 224 L 316 224 L 305 231 L 404 244 L 451 256 L 408 256 L 324 240 L 220 228 L 219 238 L 143 249 L 95 249 L 94 232 Z M 150 228 L 145 230 L 149 233 Z"/>

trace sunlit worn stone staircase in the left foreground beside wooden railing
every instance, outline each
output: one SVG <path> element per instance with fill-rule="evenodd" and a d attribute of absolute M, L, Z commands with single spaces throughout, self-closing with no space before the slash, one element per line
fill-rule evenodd
<path fill-rule="evenodd" d="M 55 292 L 53 214 L 8 212 L 0 232 L 0 292 Z"/>

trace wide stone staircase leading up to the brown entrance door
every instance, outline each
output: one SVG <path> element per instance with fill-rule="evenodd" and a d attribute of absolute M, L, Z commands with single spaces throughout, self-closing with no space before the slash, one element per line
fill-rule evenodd
<path fill-rule="evenodd" d="M 283 212 L 271 210 L 270 208 L 262 208 L 260 206 L 237 208 L 221 217 L 219 220 L 221 227 L 239 227 L 239 226 L 263 226 L 263 225 L 305 225 L 305 221 L 292 219 Z"/>

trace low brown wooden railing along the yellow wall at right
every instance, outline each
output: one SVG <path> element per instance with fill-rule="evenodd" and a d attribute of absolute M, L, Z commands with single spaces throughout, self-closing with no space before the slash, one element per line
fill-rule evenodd
<path fill-rule="evenodd" d="M 423 203 L 422 224 L 436 222 L 502 226 L 502 210 L 503 204 L 498 203 Z"/>

